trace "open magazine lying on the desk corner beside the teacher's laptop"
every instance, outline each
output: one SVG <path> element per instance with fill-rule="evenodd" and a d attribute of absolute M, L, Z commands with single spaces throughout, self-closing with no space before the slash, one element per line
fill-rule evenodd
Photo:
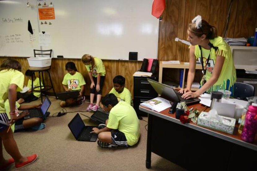
<path fill-rule="evenodd" d="M 152 100 L 145 101 L 144 103 L 141 103 L 140 105 L 146 106 L 157 112 L 163 111 L 163 110 L 171 107 L 170 101 L 163 99 L 161 97 L 156 97 Z"/>

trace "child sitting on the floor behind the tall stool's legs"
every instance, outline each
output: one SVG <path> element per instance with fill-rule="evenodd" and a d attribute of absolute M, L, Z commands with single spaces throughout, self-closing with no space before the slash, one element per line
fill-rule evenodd
<path fill-rule="evenodd" d="M 27 70 L 25 72 L 25 75 L 29 78 L 28 85 L 27 85 L 29 90 L 28 90 L 28 92 L 25 92 L 25 93 L 17 92 L 17 97 L 19 98 L 19 100 L 17 100 L 17 102 L 19 104 L 21 104 L 23 102 L 29 103 L 31 101 L 35 101 L 41 96 L 40 92 L 33 91 L 33 93 L 31 93 L 32 92 L 32 90 L 31 90 L 32 75 L 33 75 L 33 88 L 40 86 L 39 78 L 36 77 L 35 73 L 31 70 Z M 42 82 L 41 82 L 41 85 L 43 85 Z M 42 86 L 42 88 L 44 88 L 44 87 Z M 35 88 L 33 90 L 40 90 L 40 87 Z"/>

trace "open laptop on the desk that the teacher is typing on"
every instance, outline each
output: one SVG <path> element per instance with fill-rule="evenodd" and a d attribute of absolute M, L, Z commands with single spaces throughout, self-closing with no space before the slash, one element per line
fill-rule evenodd
<path fill-rule="evenodd" d="M 151 86 L 155 89 L 155 91 L 164 99 L 167 99 L 171 102 L 181 102 L 184 101 L 186 105 L 193 105 L 200 102 L 200 99 L 193 98 L 193 99 L 184 99 L 182 98 L 182 94 L 179 93 L 177 90 L 169 87 L 168 85 L 159 83 L 152 79 L 147 79 Z"/>

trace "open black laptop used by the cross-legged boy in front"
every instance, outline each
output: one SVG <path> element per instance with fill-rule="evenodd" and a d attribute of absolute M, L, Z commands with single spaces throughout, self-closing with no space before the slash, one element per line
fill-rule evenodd
<path fill-rule="evenodd" d="M 72 131 L 75 139 L 78 141 L 93 141 L 95 142 L 98 135 L 95 133 L 90 133 L 95 126 L 85 126 L 83 120 L 81 119 L 79 113 L 77 113 L 68 127 Z"/>

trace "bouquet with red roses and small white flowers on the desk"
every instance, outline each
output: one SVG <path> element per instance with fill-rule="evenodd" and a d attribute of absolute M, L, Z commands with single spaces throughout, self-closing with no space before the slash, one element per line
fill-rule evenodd
<path fill-rule="evenodd" d="M 176 118 L 182 123 L 188 123 L 190 119 L 194 124 L 196 124 L 199 114 L 200 113 L 197 109 L 188 110 L 185 102 L 178 103 L 176 106 Z"/>

